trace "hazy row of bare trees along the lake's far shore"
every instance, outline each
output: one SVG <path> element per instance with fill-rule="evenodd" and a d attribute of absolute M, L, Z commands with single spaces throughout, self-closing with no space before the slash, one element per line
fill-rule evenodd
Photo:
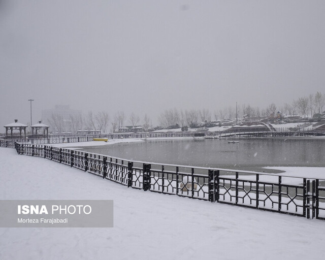
<path fill-rule="evenodd" d="M 226 119 L 247 118 L 254 117 L 268 117 L 274 115 L 277 111 L 288 116 L 301 115 L 302 117 L 313 116 L 314 114 L 322 114 L 325 107 L 325 94 L 317 92 L 294 100 L 292 103 L 285 103 L 282 107 L 277 108 L 274 103 L 269 104 L 267 107 L 260 109 L 259 107 L 252 107 L 243 104 L 241 106 L 228 106 L 223 109 L 210 111 L 209 109 L 200 110 L 178 110 L 167 109 L 160 113 L 158 122 L 162 127 L 171 125 L 191 126 L 197 125 L 202 122 L 221 121 Z M 100 129 L 102 133 L 109 131 L 116 132 L 118 128 L 123 127 L 126 123 L 133 127 L 141 125 L 144 131 L 148 131 L 151 126 L 150 117 L 145 114 L 141 119 L 139 115 L 131 113 L 126 118 L 123 111 L 116 112 L 111 118 L 109 113 L 101 111 L 93 114 L 89 111 L 85 116 L 70 115 L 69 118 L 63 118 L 61 115 L 52 114 L 48 118 L 49 123 L 55 131 L 73 132 L 76 133 L 79 129 Z"/>

